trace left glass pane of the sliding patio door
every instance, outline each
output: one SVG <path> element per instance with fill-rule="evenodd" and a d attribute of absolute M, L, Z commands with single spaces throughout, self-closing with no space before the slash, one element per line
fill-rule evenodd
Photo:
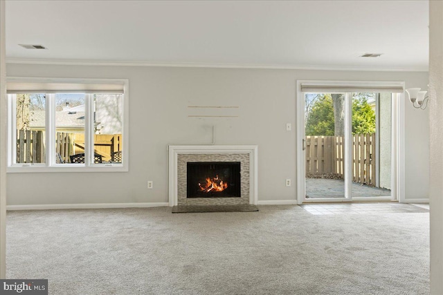
<path fill-rule="evenodd" d="M 305 95 L 306 198 L 345 198 L 345 94 Z"/>

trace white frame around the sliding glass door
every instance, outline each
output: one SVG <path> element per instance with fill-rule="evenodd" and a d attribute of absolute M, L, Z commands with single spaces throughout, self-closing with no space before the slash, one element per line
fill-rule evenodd
<path fill-rule="evenodd" d="M 356 86 L 361 87 L 367 86 L 368 88 L 384 88 L 387 86 L 404 88 L 404 82 L 350 82 L 350 81 L 307 81 L 298 80 L 297 81 L 297 91 L 296 91 L 296 122 L 297 122 L 297 135 L 296 135 L 296 169 L 297 169 L 297 204 L 302 204 L 303 202 L 350 202 L 350 201 L 381 201 L 381 200 L 398 200 L 399 202 L 404 202 L 404 191 L 405 191 L 405 173 L 404 173 L 404 93 L 392 93 L 392 134 L 391 134 L 391 196 L 390 197 L 365 197 L 365 198 L 331 198 L 331 199 L 306 199 L 306 158 L 304 148 L 305 140 L 305 93 L 302 92 L 302 84 L 318 84 L 323 86 Z M 351 107 L 352 93 L 356 92 L 369 92 L 367 89 L 358 88 L 352 91 L 339 91 L 336 93 L 345 93 L 346 100 L 345 107 L 347 112 Z M 382 92 L 382 91 L 378 91 Z M 328 92 L 329 93 L 329 92 Z M 352 122 L 348 117 L 348 122 L 345 122 L 345 129 L 347 136 L 349 136 L 352 129 Z M 345 138 L 346 148 L 345 149 L 345 161 L 347 163 L 352 162 L 352 142 L 350 138 Z M 346 152 L 347 151 L 347 152 Z M 352 177 L 350 177 L 351 170 L 345 169 L 347 177 L 345 177 L 345 196 L 351 196 L 352 193 Z M 352 175 L 351 175 L 352 176 Z"/>

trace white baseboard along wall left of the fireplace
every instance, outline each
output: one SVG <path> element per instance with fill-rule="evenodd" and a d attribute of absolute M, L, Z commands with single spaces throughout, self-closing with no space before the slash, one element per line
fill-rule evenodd
<path fill-rule="evenodd" d="M 98 204 L 34 204 L 8 205 L 7 211 L 12 210 L 49 210 L 49 209 L 109 209 L 109 208 L 150 208 L 168 207 L 168 202 L 158 203 L 98 203 Z"/>

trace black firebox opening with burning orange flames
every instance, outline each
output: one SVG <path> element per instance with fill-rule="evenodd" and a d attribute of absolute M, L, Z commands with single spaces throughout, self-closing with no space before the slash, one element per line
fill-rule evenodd
<path fill-rule="evenodd" d="M 188 162 L 187 198 L 240 198 L 240 162 Z"/>

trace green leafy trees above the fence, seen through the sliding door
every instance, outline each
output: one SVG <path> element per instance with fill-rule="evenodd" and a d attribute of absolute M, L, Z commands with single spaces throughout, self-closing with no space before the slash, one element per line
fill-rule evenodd
<path fill-rule="evenodd" d="M 375 112 L 368 103 L 374 93 L 355 93 L 352 97 L 352 133 L 374 133 Z M 311 97 L 306 114 L 306 135 L 343 135 L 345 130 L 344 97 L 338 95 L 316 95 Z"/>

